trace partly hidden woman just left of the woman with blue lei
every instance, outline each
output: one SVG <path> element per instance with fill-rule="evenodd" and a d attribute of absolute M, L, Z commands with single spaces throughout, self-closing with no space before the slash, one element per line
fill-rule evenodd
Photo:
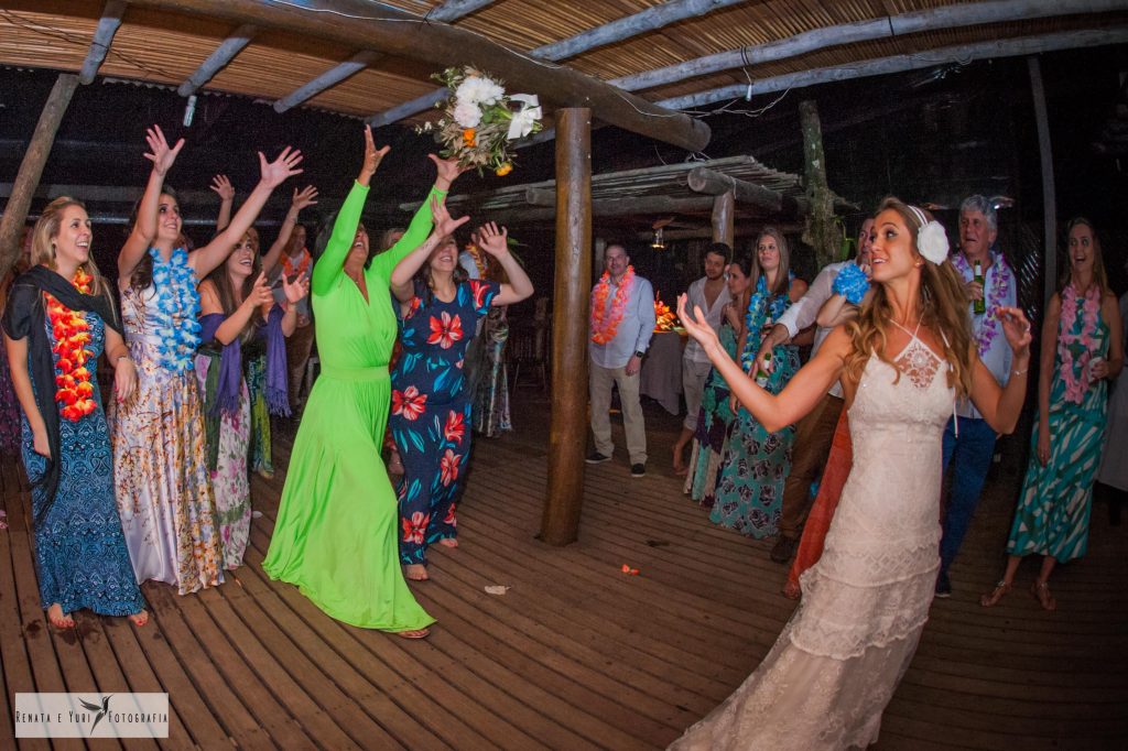
<path fill-rule="evenodd" d="M 717 336 L 729 356 L 737 357 L 737 339 L 743 321 L 740 311 L 748 309 L 748 290 L 752 277 L 752 257 L 742 256 L 729 264 L 729 293 L 732 301 L 724 306 L 724 320 Z M 693 448 L 689 453 L 689 472 L 686 475 L 685 493 L 705 509 L 712 509 L 716 500 L 716 480 L 721 471 L 721 460 L 732 435 L 735 415 L 729 407 L 729 385 L 724 377 L 713 369 L 702 391 L 702 406 L 697 415 Z"/>

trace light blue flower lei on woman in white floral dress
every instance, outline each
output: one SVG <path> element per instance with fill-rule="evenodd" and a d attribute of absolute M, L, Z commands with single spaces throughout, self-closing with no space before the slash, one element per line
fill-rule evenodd
<path fill-rule="evenodd" d="M 200 346 L 200 293 L 188 253 L 176 248 L 162 260 L 160 250 L 149 248 L 152 258 L 153 302 L 147 311 L 152 333 L 160 339 L 157 364 L 174 373 L 193 369 Z"/>

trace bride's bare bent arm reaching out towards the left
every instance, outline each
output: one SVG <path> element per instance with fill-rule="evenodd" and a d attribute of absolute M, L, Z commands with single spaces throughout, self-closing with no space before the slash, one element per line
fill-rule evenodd
<path fill-rule="evenodd" d="M 678 318 L 681 319 L 686 332 L 700 342 L 713 366 L 724 378 L 733 396 L 769 433 L 799 422 L 814 408 L 830 385 L 841 374 L 843 364 L 851 348 L 849 335 L 844 329 L 835 329 L 810 362 L 792 377 L 783 391 L 773 395 L 757 386 L 756 381 L 733 362 L 721 346 L 716 332 L 705 323 L 700 308 L 695 308 L 694 316 L 696 318 L 686 310 L 686 295 L 682 294 L 678 298 Z"/>

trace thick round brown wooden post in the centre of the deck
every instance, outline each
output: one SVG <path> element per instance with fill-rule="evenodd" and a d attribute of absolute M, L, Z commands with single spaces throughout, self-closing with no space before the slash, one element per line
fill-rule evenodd
<path fill-rule="evenodd" d="M 588 298 L 591 293 L 591 111 L 556 111 L 556 290 L 553 310 L 548 496 L 540 538 L 574 542 L 588 444 Z"/>

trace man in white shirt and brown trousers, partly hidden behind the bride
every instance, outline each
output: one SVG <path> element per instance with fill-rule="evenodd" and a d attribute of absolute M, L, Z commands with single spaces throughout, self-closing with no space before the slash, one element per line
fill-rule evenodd
<path fill-rule="evenodd" d="M 847 264 L 861 266 L 870 263 L 870 247 L 873 244 L 872 231 L 873 219 L 866 219 L 862 222 L 862 229 L 857 237 L 857 256 L 853 260 L 829 264 L 814 277 L 807 294 L 784 311 L 776 325 L 772 327 L 772 332 L 764 337 L 760 351 L 756 355 L 756 360 L 761 366 L 765 366 L 765 353 L 770 352 L 776 345 L 788 342 L 801 330 L 814 324 L 819 309 L 834 294 L 835 279 L 843 267 Z M 811 356 L 814 356 L 814 353 L 822 346 L 828 334 L 830 334 L 829 328 L 819 327 L 816 330 Z M 835 427 L 838 425 L 844 404 L 841 387 L 836 382 L 814 409 L 795 425 L 791 474 L 783 486 L 779 539 L 772 548 L 772 560 L 776 563 L 785 564 L 791 560 L 799 547 L 799 534 L 807 520 L 807 514 L 811 510 L 811 484 L 819 478 L 819 474 L 827 465 L 827 458 L 830 456 L 830 443 L 835 438 Z"/>

